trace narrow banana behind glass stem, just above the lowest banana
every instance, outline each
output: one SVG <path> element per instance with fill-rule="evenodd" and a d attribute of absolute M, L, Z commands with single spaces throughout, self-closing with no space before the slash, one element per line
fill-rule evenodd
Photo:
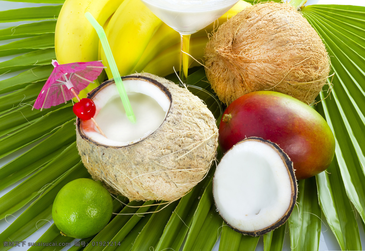
<path fill-rule="evenodd" d="M 210 34 L 213 30 L 218 28 L 225 21 L 230 19 L 232 16 L 236 15 L 242 9 L 250 6 L 251 4 L 239 0 L 231 9 L 229 9 L 224 15 L 219 17 L 218 20 L 215 20 L 213 23 L 205 27 L 204 29 L 194 33 L 191 35 L 191 38 L 196 38 L 200 36 L 205 36 L 207 38 L 206 42 L 208 42 L 208 34 Z M 166 48 L 173 46 L 176 43 L 180 42 L 180 35 L 177 31 L 173 30 L 166 24 L 162 24 L 161 27 L 156 31 L 156 33 L 151 38 L 151 41 L 147 45 L 144 50 L 141 58 L 139 59 L 137 65 L 134 67 L 133 72 L 142 71 L 143 68 L 147 66 L 147 64 L 155 58 L 158 54 L 164 51 Z"/>

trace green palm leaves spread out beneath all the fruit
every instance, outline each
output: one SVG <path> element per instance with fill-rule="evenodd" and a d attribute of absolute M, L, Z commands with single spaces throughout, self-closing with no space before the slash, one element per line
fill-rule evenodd
<path fill-rule="evenodd" d="M 62 3 L 63 0 L 28 2 Z M 32 234 L 37 227 L 47 222 L 42 221 L 35 225 L 36 221 L 41 218 L 50 219 L 50 201 L 53 201 L 57 189 L 77 177 L 88 176 L 86 169 L 79 163 L 80 157 L 73 143 L 75 134 L 71 120 L 74 118 L 71 104 L 42 112 L 31 113 L 30 109 L 27 110 L 53 69 L 50 59 L 55 58 L 54 19 L 57 19 L 61 6 L 0 12 L 0 22 L 49 19 L 0 30 L 0 40 L 24 38 L 0 46 L 0 56 L 27 52 L 0 63 L 0 75 L 27 70 L 13 78 L 0 81 L 0 94 L 15 91 L 0 97 L 0 135 L 3 135 L 0 138 L 0 157 L 8 156 L 46 135 L 51 135 L 0 168 L 0 189 L 41 168 L 0 198 L 0 216 L 15 212 L 37 197 L 38 191 L 45 187 L 39 199 L 0 234 L 0 240 L 9 237 L 21 240 Z M 365 212 L 362 208 L 365 206 L 365 7 L 312 5 L 304 7 L 301 12 L 322 36 L 331 56 L 335 73 L 332 81 L 333 91 L 331 98 L 319 103 L 316 109 L 324 115 L 335 134 L 336 156 L 328 168 L 328 173 L 320 173 L 316 178 L 299 183 L 299 205 L 288 221 L 291 246 L 295 250 L 318 250 L 320 219 L 316 216 L 320 216 L 322 211 L 340 247 L 343 250 L 360 250 L 360 236 L 354 213 L 351 211 L 351 203 L 364 221 Z M 214 95 L 209 84 L 205 82 L 207 79 L 204 69 L 200 67 L 192 72 L 188 77 L 188 84 L 199 86 Z M 177 82 L 174 75 L 168 78 Z M 189 90 L 195 91 L 215 117 L 219 118 L 219 104 L 211 96 L 198 89 Z M 325 96 L 326 93 L 320 95 L 321 98 Z M 9 133 L 11 135 L 5 136 Z M 11 178 L 8 178 L 9 176 Z M 98 235 L 83 241 L 120 241 L 120 246 L 98 247 L 98 250 L 138 250 L 147 246 L 154 247 L 155 250 L 178 250 L 187 237 L 184 250 L 211 250 L 222 232 L 220 250 L 254 250 L 257 237 L 242 236 L 223 224 L 214 206 L 211 177 L 198 184 L 179 202 L 166 207 L 166 210 L 148 213 L 144 217 L 117 215 Z M 53 185 L 47 187 L 49 183 Z M 17 200 L 14 201 L 14 198 Z M 148 201 L 144 205 L 152 203 L 154 202 Z M 41 208 L 41 211 L 38 212 L 35 207 Z M 162 208 L 162 205 L 159 208 Z M 141 207 L 138 211 L 137 208 L 126 207 L 122 212 L 144 213 L 155 210 L 156 206 Z M 266 234 L 264 250 L 281 250 L 284 233 L 285 224 Z M 63 241 L 56 234 L 57 229 L 53 225 L 39 241 Z M 0 247 L 0 250 L 1 248 L 3 247 Z M 96 247 L 89 245 L 86 249 L 93 248 Z M 82 247 L 70 248 L 80 249 Z"/>

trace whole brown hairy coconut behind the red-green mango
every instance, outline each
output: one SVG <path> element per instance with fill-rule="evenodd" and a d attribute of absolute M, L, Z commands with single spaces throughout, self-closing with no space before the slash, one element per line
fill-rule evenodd
<path fill-rule="evenodd" d="M 311 104 L 330 72 L 319 35 L 289 4 L 263 3 L 222 24 L 205 51 L 208 80 L 229 105 L 252 91 L 277 91 Z"/>

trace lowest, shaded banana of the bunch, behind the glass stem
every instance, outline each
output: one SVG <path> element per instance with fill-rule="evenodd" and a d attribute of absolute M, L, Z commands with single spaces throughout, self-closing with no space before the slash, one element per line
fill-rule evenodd
<path fill-rule="evenodd" d="M 190 40 L 189 54 L 196 60 L 203 63 L 204 50 L 207 44 L 207 37 L 200 36 Z M 143 69 L 144 72 L 165 77 L 175 71 L 179 71 L 180 63 L 180 42 L 162 51 L 158 56 L 152 59 Z M 199 66 L 194 59 L 189 58 L 189 68 Z"/>

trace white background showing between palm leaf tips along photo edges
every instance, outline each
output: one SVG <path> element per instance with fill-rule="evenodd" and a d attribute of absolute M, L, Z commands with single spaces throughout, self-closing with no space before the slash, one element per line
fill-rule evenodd
<path fill-rule="evenodd" d="M 97 1 L 97 0 L 95 0 L 95 1 Z M 310 4 L 351 4 L 351 5 L 365 6 L 365 0 L 308 0 L 306 5 L 310 5 Z M 0 11 L 4 11 L 7 9 L 14 9 L 14 8 L 35 7 L 35 6 L 41 6 L 41 5 L 44 5 L 44 4 L 17 3 L 17 2 L 8 2 L 8 1 L 0 0 Z M 10 24 L 9 23 L 0 23 L 0 29 L 11 27 L 11 26 L 16 26 L 21 23 L 25 23 L 25 22 L 17 22 L 17 23 L 10 23 Z M 16 39 L 14 39 L 14 40 L 16 40 Z M 6 44 L 6 43 L 12 42 L 12 41 L 13 40 L 0 41 L 0 45 Z M 13 57 L 14 56 L 0 57 L 0 62 L 9 60 Z M 12 77 L 12 76 L 18 75 L 19 73 L 20 72 L 13 72 L 11 74 L 7 74 L 7 77 Z M 0 75 L 0 80 L 2 80 L 4 78 L 5 78 L 4 76 Z M 8 161 L 10 161 L 13 158 L 15 158 L 16 156 L 18 156 L 20 154 L 20 152 L 21 153 L 25 152 L 26 150 L 30 149 L 31 147 L 32 146 L 28 146 L 26 149 L 23 149 L 22 151 L 18 151 L 17 154 L 10 154 L 9 156 L 1 159 L 0 166 L 3 166 Z M 8 188 L 0 191 L 0 197 L 3 196 L 8 191 L 10 191 L 11 189 L 13 189 L 14 187 L 16 187 L 16 185 L 18 185 L 25 179 L 26 178 L 24 178 L 23 180 L 19 181 L 16 184 L 11 185 Z M 28 203 L 25 207 L 23 207 L 19 211 L 15 212 L 13 215 L 7 216 L 6 219 L 0 220 L 0 232 L 4 231 L 9 226 L 9 224 L 12 223 L 16 219 L 16 217 L 18 217 L 30 204 L 31 203 Z M 362 226 L 361 226 L 360 216 L 357 217 L 357 221 L 358 221 L 360 235 L 361 235 L 361 243 L 363 246 L 362 250 L 365 250 L 365 248 L 364 248 L 365 235 L 364 235 L 364 230 L 362 229 Z M 35 232 L 31 236 L 29 236 L 27 239 L 25 239 L 25 242 L 28 243 L 28 242 L 37 241 L 37 239 L 39 237 L 41 237 L 41 235 L 47 230 L 47 228 L 51 225 L 51 223 L 53 223 L 52 220 L 51 220 L 51 222 L 46 223 L 43 227 L 41 227 L 39 230 L 37 230 L 37 232 Z M 290 250 L 290 238 L 289 238 L 288 229 L 286 230 L 286 232 L 287 232 L 287 234 L 285 235 L 283 250 L 289 251 Z M 218 235 L 218 233 L 217 233 L 217 235 Z M 17 241 L 17 240 L 13 240 L 13 241 Z M 216 243 L 216 245 L 214 246 L 213 251 L 218 251 L 218 247 L 219 247 L 219 239 L 218 239 L 218 242 Z M 64 248 L 64 250 L 67 250 L 67 249 L 68 248 Z M 262 238 L 260 238 L 258 245 L 256 247 L 256 250 L 263 250 L 263 249 L 264 249 L 264 244 L 263 244 Z M 27 247 L 23 247 L 23 248 L 15 247 L 15 248 L 12 248 L 11 250 L 14 250 L 14 251 L 15 250 L 27 250 Z M 339 247 L 339 245 L 337 243 L 337 240 L 335 239 L 335 236 L 333 235 L 332 231 L 328 227 L 328 224 L 326 221 L 322 222 L 322 232 L 321 232 L 320 241 L 319 241 L 319 251 L 325 251 L 325 250 L 332 250 L 332 251 L 341 250 L 341 248 Z M 229 251 L 229 250 L 227 250 L 227 251 Z"/>

